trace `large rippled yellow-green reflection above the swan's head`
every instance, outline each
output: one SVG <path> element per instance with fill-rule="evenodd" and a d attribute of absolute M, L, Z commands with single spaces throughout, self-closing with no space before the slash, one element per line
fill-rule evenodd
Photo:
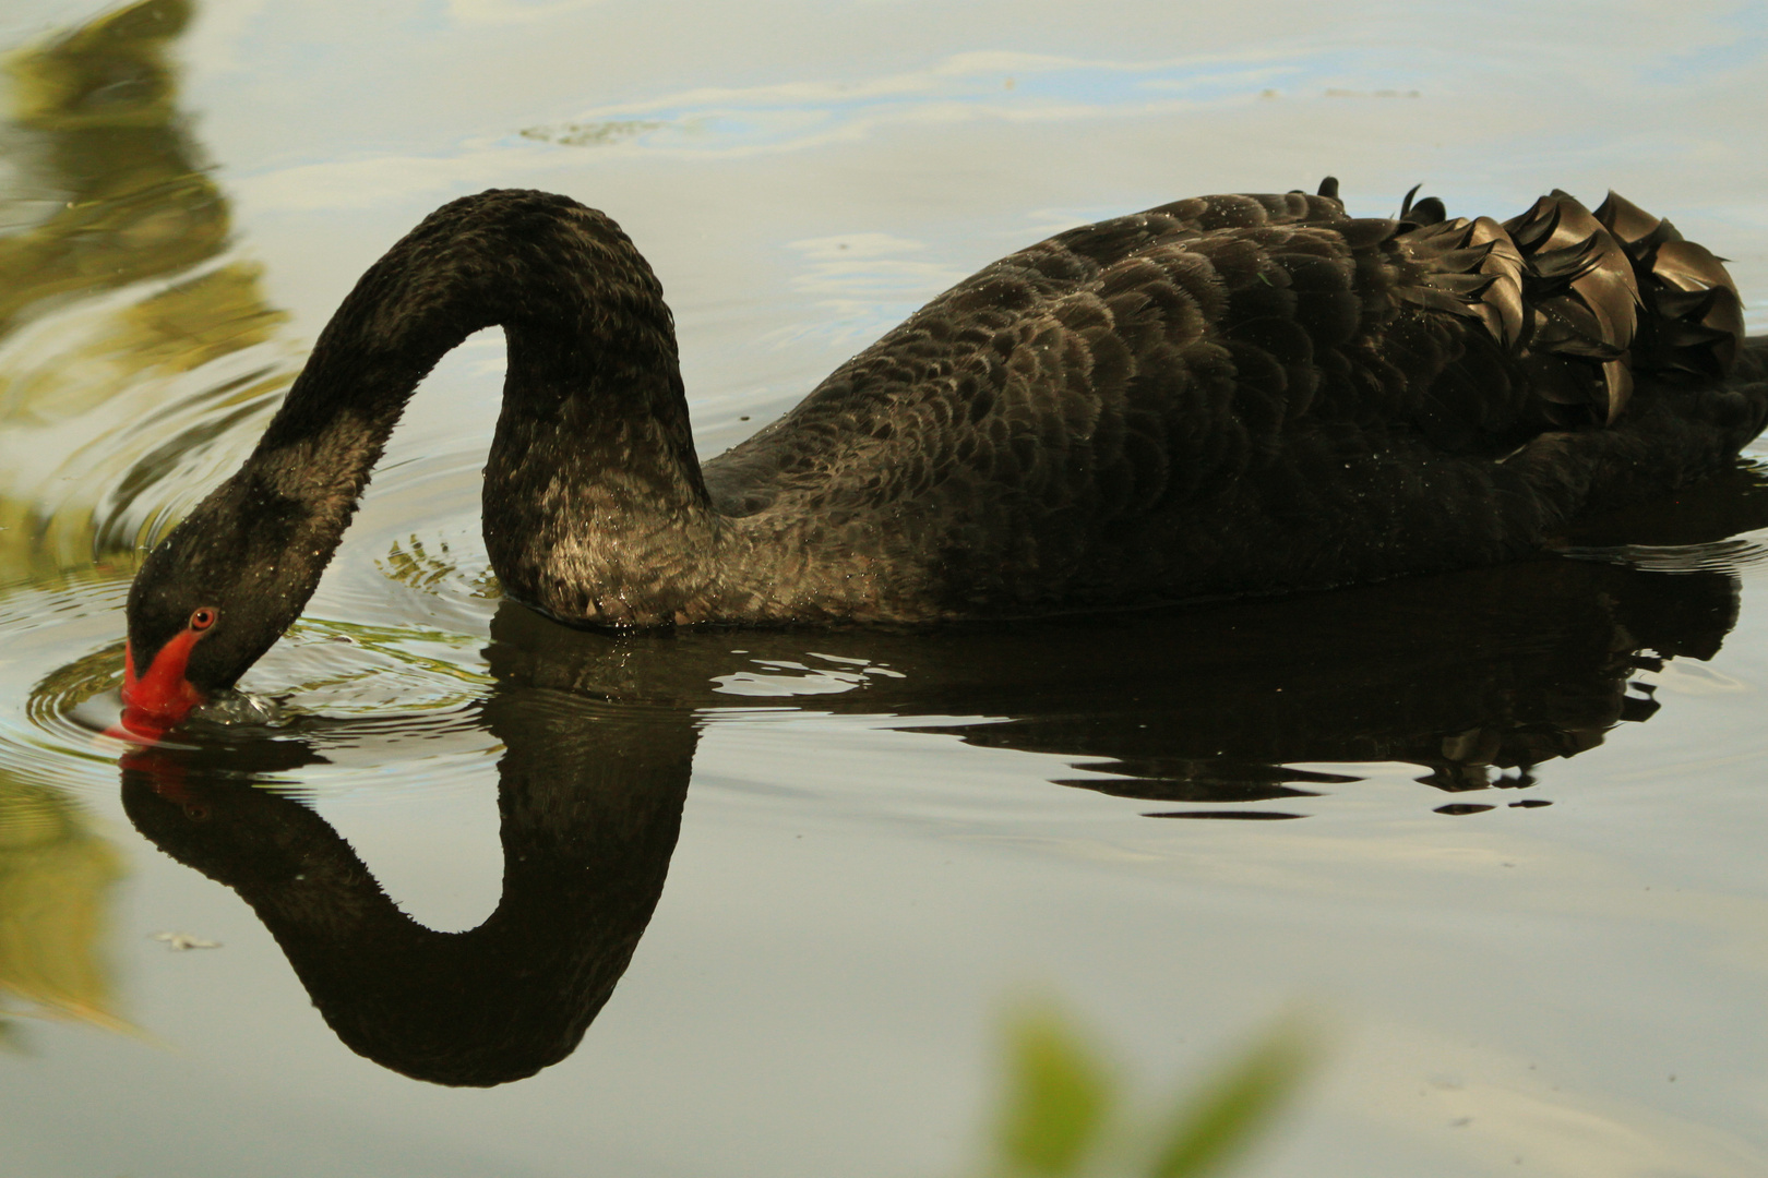
<path fill-rule="evenodd" d="M 286 318 L 230 258 L 228 201 L 179 109 L 189 0 L 141 0 L 5 62 L 0 585 L 127 558 L 141 493 L 290 380 L 180 380 Z M 124 523 L 133 521 L 133 523 Z"/>

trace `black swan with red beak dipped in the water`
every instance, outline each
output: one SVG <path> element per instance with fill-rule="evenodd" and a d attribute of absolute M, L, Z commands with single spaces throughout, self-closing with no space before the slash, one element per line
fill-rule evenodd
<path fill-rule="evenodd" d="M 566 196 L 444 205 L 370 267 L 246 464 L 129 592 L 124 722 L 230 687 L 318 585 L 412 390 L 500 323 L 484 540 L 576 625 L 926 623 L 1492 563 L 1722 468 L 1768 339 L 1611 194 L 1204 196 L 969 277 L 700 464 L 651 267 Z M 138 673 L 138 668 L 140 673 Z"/>

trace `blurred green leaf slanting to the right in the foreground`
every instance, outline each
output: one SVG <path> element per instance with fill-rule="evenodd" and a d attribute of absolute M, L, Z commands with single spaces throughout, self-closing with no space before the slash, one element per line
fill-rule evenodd
<path fill-rule="evenodd" d="M 1276 1023 L 1179 1109 L 1149 1178 L 1197 1178 L 1218 1171 L 1271 1129 L 1319 1054 L 1317 1035 L 1308 1024 L 1294 1017 Z"/>

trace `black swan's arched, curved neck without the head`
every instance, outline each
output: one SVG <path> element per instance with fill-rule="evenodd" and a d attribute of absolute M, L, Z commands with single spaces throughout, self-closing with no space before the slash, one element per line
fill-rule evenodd
<path fill-rule="evenodd" d="M 461 198 L 387 251 L 237 479 L 299 500 L 329 558 L 417 383 L 492 325 L 509 366 L 484 533 L 504 592 L 568 620 L 670 620 L 700 588 L 679 556 L 716 526 L 674 320 L 619 226 L 564 196 Z M 649 556 L 665 546 L 674 581 Z"/>

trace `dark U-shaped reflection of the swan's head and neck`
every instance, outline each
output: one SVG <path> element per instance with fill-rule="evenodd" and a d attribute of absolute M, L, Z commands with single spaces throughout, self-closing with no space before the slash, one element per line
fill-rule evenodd
<path fill-rule="evenodd" d="M 483 715 L 506 745 L 504 883 L 465 933 L 407 917 L 324 818 L 251 784 L 299 766 L 301 745 L 260 747 L 248 774 L 240 749 L 124 766 L 134 825 L 251 904 L 338 1037 L 440 1084 L 522 1079 L 576 1049 L 663 892 L 697 740 L 686 724 L 520 687 Z"/>

